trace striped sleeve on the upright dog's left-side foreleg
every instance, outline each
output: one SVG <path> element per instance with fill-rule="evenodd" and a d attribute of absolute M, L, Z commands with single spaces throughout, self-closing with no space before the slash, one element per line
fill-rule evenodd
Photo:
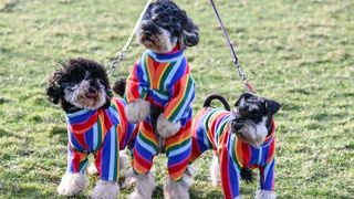
<path fill-rule="evenodd" d="M 124 97 L 127 103 L 138 98 L 145 100 L 147 95 L 146 74 L 139 62 L 134 64 L 134 67 L 127 77 Z"/>

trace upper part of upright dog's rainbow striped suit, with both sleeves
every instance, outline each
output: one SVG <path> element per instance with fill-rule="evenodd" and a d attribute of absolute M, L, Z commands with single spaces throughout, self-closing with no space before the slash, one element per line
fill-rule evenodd
<path fill-rule="evenodd" d="M 164 54 L 147 50 L 135 63 L 125 91 L 127 103 L 149 101 L 164 108 L 169 122 L 184 126 L 191 118 L 195 82 L 184 50 L 178 46 Z"/>

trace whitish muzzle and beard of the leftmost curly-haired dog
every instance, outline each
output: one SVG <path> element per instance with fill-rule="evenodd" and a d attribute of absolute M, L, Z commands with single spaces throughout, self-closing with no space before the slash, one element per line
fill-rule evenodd
<path fill-rule="evenodd" d="M 97 109 L 106 102 L 106 94 L 104 86 L 98 83 L 98 91 L 95 95 L 91 95 L 88 92 L 90 81 L 82 81 L 74 87 L 65 88 L 64 98 L 72 105 L 84 109 Z"/>

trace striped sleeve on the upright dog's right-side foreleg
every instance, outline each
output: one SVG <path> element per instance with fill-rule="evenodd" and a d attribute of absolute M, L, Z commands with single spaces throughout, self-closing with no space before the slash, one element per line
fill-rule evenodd
<path fill-rule="evenodd" d="M 185 74 L 169 90 L 170 101 L 166 104 L 164 116 L 173 123 L 180 121 L 191 108 L 195 98 L 195 81 L 190 73 Z"/>

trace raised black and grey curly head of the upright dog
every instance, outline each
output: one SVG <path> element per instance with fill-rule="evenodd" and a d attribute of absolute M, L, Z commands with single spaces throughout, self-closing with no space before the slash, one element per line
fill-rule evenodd
<path fill-rule="evenodd" d="M 171 0 L 156 0 L 147 8 L 137 31 L 137 39 L 145 48 L 157 53 L 197 45 L 198 27 Z"/>

